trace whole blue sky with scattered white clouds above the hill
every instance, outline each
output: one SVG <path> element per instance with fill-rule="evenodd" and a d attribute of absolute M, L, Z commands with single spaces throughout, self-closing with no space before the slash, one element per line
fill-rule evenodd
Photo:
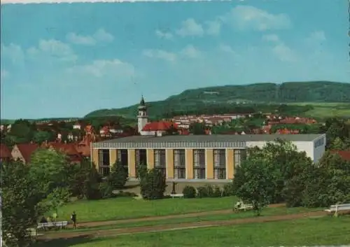
<path fill-rule="evenodd" d="M 1 118 L 80 117 L 212 85 L 349 82 L 347 4 L 5 4 Z"/>

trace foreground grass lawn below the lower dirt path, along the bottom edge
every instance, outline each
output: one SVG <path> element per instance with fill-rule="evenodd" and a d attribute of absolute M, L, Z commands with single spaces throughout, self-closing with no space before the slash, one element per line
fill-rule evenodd
<path fill-rule="evenodd" d="M 55 247 L 226 247 L 226 246 L 316 246 L 350 243 L 349 217 L 323 217 L 208 227 L 158 233 L 132 234 L 115 238 L 62 239 L 38 244 Z"/>

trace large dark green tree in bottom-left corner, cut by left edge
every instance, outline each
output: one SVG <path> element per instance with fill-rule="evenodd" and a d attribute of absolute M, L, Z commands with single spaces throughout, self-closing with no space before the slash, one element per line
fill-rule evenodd
<path fill-rule="evenodd" d="M 41 208 L 41 192 L 33 186 L 29 166 L 22 162 L 1 164 L 1 211 L 3 241 L 7 246 L 23 247 L 29 244 L 27 229 L 36 225 Z"/>

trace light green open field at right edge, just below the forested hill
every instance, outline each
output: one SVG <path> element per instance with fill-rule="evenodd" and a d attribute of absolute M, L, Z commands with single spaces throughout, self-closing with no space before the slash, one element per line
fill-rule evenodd
<path fill-rule="evenodd" d="M 312 110 L 303 113 L 302 115 L 310 118 L 350 118 L 350 104 L 349 103 L 313 103 L 301 102 L 290 104 L 294 106 L 314 107 Z"/>

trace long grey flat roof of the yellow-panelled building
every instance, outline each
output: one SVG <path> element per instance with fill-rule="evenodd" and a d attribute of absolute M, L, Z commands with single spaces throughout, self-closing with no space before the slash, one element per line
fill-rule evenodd
<path fill-rule="evenodd" d="M 92 148 L 245 148 L 249 141 L 314 141 L 325 134 L 209 134 L 127 136 L 92 143 Z"/>

